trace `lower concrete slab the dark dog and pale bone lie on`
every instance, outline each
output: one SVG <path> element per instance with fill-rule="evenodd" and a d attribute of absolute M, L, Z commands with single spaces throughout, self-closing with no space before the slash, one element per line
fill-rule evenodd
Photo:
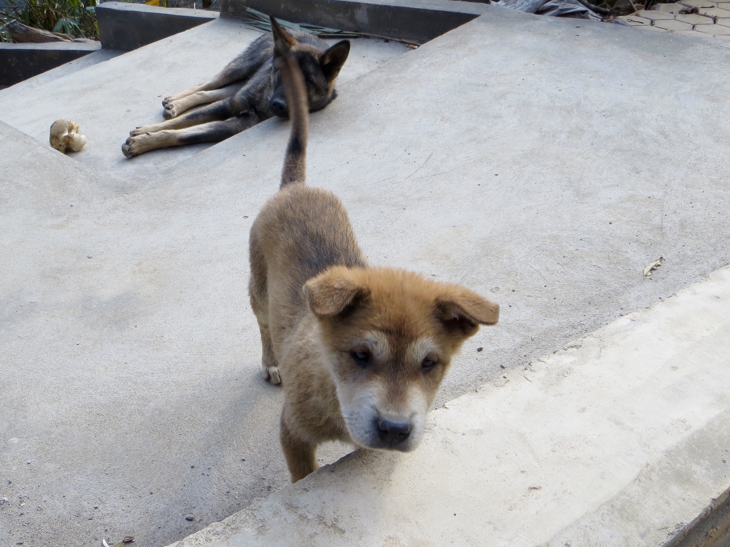
<path fill-rule="evenodd" d="M 129 131 L 163 121 L 162 98 L 210 79 L 258 36 L 261 31 L 238 21 L 215 20 L 111 63 L 55 79 L 33 93 L 24 86 L 1 90 L 0 120 L 41 142 L 47 141 L 48 128 L 58 118 L 74 120 L 89 141 L 74 154 L 75 160 L 119 179 L 151 179 L 212 144 L 155 150 L 129 160 L 121 151 Z M 340 84 L 410 51 L 397 42 L 353 39 L 351 43 Z"/>

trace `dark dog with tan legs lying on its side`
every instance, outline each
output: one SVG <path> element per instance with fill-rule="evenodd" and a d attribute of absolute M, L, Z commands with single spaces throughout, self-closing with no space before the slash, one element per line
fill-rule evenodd
<path fill-rule="evenodd" d="M 317 36 L 288 33 L 274 21 L 272 34 L 256 39 L 210 82 L 165 98 L 167 121 L 130 131 L 122 145 L 123 154 L 131 158 L 158 148 L 219 142 L 269 117 L 286 117 L 274 38 L 282 44 L 281 51 L 296 58 L 305 74 L 310 111 L 327 106 L 337 96 L 334 84 L 350 53 L 350 42 L 328 47 Z"/>

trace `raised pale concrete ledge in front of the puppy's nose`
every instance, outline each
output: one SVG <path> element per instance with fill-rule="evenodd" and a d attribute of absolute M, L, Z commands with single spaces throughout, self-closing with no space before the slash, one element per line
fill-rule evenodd
<path fill-rule="evenodd" d="M 730 268 L 169 547 L 661 547 L 730 488 Z"/>

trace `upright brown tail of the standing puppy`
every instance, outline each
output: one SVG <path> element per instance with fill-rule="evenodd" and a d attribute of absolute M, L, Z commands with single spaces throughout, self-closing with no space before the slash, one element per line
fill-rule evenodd
<path fill-rule="evenodd" d="M 282 52 L 281 78 L 286 91 L 289 106 L 291 133 L 286 147 L 284 168 L 281 172 L 280 189 L 293 184 L 307 182 L 307 136 L 310 123 L 310 104 L 307 100 L 307 88 L 299 63 L 288 52 Z"/>

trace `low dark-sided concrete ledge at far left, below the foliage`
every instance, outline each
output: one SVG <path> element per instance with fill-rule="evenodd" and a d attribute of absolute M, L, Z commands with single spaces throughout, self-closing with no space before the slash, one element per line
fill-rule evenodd
<path fill-rule="evenodd" d="M 0 43 L 0 85 L 17 84 L 99 49 L 99 42 Z"/>

